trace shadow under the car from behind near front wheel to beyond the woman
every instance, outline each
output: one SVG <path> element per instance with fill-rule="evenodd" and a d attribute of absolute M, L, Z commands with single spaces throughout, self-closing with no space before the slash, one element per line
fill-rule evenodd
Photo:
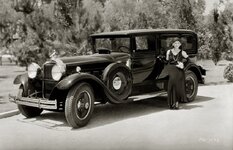
<path fill-rule="evenodd" d="M 191 103 L 181 103 L 181 109 L 194 109 L 203 107 L 198 103 L 212 100 L 211 97 L 197 96 L 196 100 Z M 131 102 L 127 104 L 118 105 L 102 105 L 97 106 L 93 112 L 90 124 L 86 129 L 111 124 L 117 121 L 135 118 L 140 116 L 149 115 L 161 111 L 169 110 L 167 105 L 167 97 L 159 96 L 155 98 L 149 98 L 141 101 Z"/>

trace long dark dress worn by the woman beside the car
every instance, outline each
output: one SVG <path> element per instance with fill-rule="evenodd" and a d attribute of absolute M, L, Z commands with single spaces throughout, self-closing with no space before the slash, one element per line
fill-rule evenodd
<path fill-rule="evenodd" d="M 181 68 L 176 67 L 177 62 L 182 62 L 184 57 L 182 51 L 177 55 L 174 55 L 171 51 L 169 53 L 168 64 L 165 66 L 165 70 L 169 76 L 168 80 L 168 106 L 175 108 L 176 102 L 186 102 L 185 94 L 185 73 Z"/>

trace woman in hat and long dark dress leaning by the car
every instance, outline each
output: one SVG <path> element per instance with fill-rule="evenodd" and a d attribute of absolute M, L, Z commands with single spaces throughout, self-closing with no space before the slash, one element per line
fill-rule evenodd
<path fill-rule="evenodd" d="M 175 39 L 173 48 L 166 53 L 166 70 L 168 80 L 168 106 L 170 109 L 179 109 L 179 101 L 186 102 L 185 94 L 185 73 L 184 63 L 188 60 L 188 55 L 181 49 L 181 42 Z"/>

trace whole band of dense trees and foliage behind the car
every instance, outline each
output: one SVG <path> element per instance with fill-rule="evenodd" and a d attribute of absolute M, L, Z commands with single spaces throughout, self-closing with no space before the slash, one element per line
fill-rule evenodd
<path fill-rule="evenodd" d="M 91 33 L 182 28 L 198 33 L 199 59 L 232 59 L 233 3 L 221 0 L 207 16 L 205 7 L 205 0 L 0 0 L 0 49 L 21 65 L 42 64 L 54 49 L 85 54 Z"/>

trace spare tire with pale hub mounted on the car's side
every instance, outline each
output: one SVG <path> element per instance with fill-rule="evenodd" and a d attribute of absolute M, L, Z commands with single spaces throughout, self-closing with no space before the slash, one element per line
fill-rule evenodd
<path fill-rule="evenodd" d="M 103 81 L 119 101 L 126 100 L 132 91 L 132 74 L 123 64 L 110 64 L 104 70 Z"/>

